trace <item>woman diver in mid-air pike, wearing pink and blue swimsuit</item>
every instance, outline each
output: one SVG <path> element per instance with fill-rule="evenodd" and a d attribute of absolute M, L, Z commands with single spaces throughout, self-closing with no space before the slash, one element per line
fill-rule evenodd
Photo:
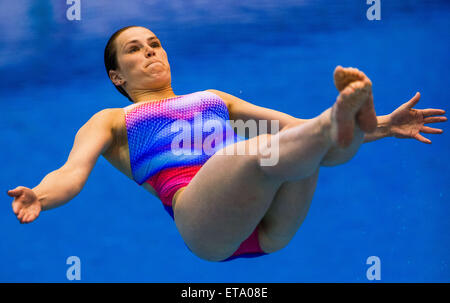
<path fill-rule="evenodd" d="M 320 166 L 345 163 L 362 143 L 387 136 L 431 143 L 419 132 L 442 130 L 424 124 L 447 120 L 437 116 L 445 114 L 440 109 L 413 109 L 419 93 L 390 115 L 377 117 L 371 81 L 355 68 L 340 66 L 334 71 L 336 102 L 313 119 L 297 119 L 213 89 L 177 96 L 161 41 L 139 26 L 111 36 L 105 65 L 113 84 L 133 104 L 93 115 L 77 132 L 61 168 L 33 189 L 18 186 L 8 191 L 21 223 L 73 199 L 103 155 L 161 199 L 186 246 L 198 257 L 226 261 L 272 253 L 289 243 L 305 219 Z M 258 135 L 236 142 L 225 139 L 221 146 L 256 148 L 252 154 L 175 154 L 173 125 L 182 120 L 198 129 L 194 114 L 199 113 L 202 123 L 218 122 L 225 128 L 227 120 L 278 121 L 279 131 L 271 130 L 269 123 L 265 132 L 259 129 Z M 268 144 L 258 145 L 263 141 Z M 271 152 L 268 146 L 278 148 L 278 159 L 262 165 Z"/>

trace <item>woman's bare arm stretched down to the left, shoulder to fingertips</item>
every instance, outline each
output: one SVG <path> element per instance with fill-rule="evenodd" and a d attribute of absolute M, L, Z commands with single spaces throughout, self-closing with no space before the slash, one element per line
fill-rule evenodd
<path fill-rule="evenodd" d="M 77 132 L 66 163 L 45 176 L 33 189 L 18 186 L 8 191 L 14 197 L 12 208 L 21 223 L 35 220 L 41 210 L 61 206 L 73 199 L 83 188 L 100 154 L 113 141 L 114 110 L 98 112 Z"/>

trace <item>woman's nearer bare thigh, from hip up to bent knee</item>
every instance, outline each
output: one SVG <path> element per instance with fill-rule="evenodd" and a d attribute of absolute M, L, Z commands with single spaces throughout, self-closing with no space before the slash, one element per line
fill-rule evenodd
<path fill-rule="evenodd" d="M 254 140 L 235 145 L 255 144 Z M 177 228 L 198 256 L 229 257 L 256 228 L 281 181 L 260 169 L 257 155 L 214 155 L 181 193 Z"/>

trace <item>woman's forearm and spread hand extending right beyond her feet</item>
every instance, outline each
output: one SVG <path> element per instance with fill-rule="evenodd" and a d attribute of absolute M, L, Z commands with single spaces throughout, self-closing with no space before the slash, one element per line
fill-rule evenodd
<path fill-rule="evenodd" d="M 431 140 L 420 133 L 442 134 L 442 129 L 425 126 L 428 123 L 445 122 L 447 118 L 442 109 L 415 109 L 420 100 L 420 93 L 402 104 L 399 108 L 386 116 L 379 116 L 377 129 L 373 133 L 366 133 L 364 142 L 371 142 L 385 137 L 411 138 L 420 142 L 431 144 Z M 437 117 L 432 117 L 437 116 Z"/>

